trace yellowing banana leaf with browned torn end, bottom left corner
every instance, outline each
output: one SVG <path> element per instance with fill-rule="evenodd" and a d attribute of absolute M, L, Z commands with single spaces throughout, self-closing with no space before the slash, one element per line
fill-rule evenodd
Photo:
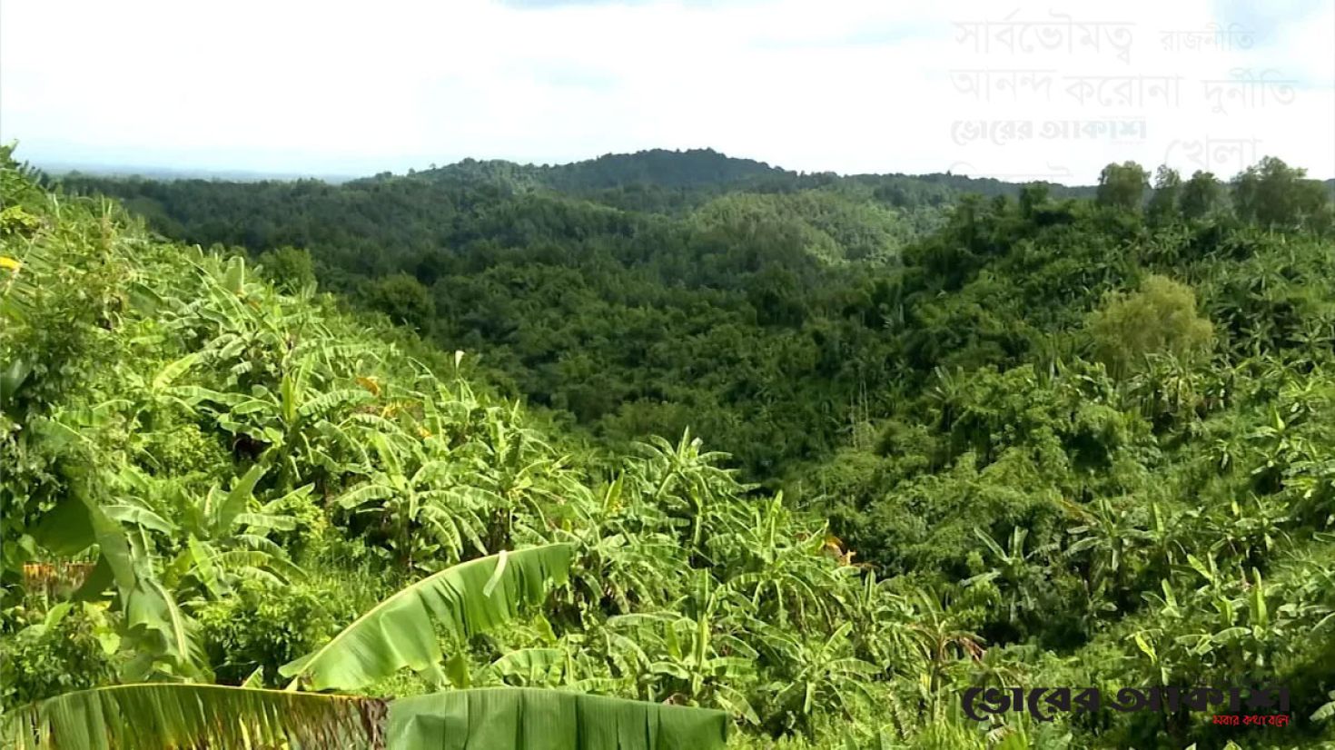
<path fill-rule="evenodd" d="M 19 750 L 383 747 L 386 703 L 223 685 L 140 683 L 65 693 L 0 717 Z"/>

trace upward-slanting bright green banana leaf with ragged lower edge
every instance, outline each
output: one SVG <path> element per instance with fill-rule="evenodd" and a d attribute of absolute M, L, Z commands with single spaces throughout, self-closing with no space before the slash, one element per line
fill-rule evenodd
<path fill-rule="evenodd" d="M 433 619 L 461 639 L 539 603 L 565 583 L 574 550 L 545 544 L 478 558 L 423 578 L 371 607 L 319 650 L 284 665 L 290 690 L 358 690 L 403 667 L 443 682 Z"/>

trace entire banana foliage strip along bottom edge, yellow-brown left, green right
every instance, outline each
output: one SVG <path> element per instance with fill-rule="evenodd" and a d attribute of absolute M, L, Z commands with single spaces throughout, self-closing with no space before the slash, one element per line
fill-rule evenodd
<path fill-rule="evenodd" d="M 383 701 L 224 685 L 116 685 L 0 715 L 16 750 L 342 747 L 414 750 L 722 750 L 722 711 L 534 689 L 449 690 Z"/>

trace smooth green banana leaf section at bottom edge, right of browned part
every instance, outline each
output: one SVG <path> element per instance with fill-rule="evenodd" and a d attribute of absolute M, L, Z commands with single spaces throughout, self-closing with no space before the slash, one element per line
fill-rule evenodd
<path fill-rule="evenodd" d="M 450 690 L 390 703 L 391 750 L 712 750 L 728 714 L 535 687 Z"/>

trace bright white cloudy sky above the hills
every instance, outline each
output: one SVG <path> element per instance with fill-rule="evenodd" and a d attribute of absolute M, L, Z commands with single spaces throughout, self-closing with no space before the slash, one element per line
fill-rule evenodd
<path fill-rule="evenodd" d="M 1216 33 L 1218 32 L 1218 33 Z M 805 172 L 1335 177 L 1335 0 L 0 0 L 39 165 L 405 172 L 714 148 Z"/>

